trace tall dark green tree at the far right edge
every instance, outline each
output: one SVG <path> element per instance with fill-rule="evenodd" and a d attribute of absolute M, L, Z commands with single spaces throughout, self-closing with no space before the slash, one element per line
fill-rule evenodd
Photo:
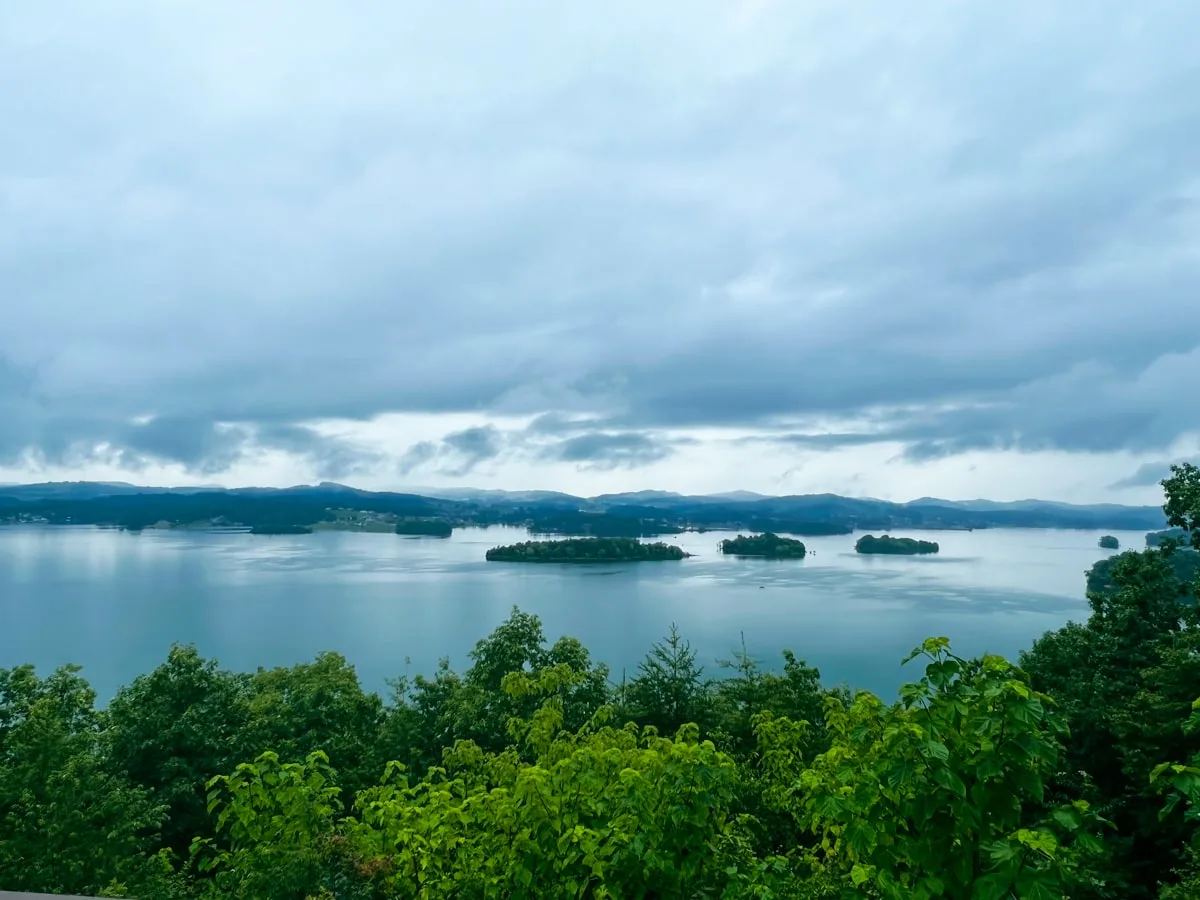
<path fill-rule="evenodd" d="M 1195 521 L 1196 480 L 1193 467 L 1175 467 L 1163 481 L 1171 524 Z M 1021 654 L 1033 685 L 1058 700 L 1070 725 L 1055 793 L 1086 798 L 1114 822 L 1108 880 L 1122 898 L 1154 895 L 1186 842 L 1181 815 L 1160 817 L 1150 785 L 1156 764 L 1200 749 L 1180 727 L 1200 683 L 1200 622 L 1178 563 L 1170 541 L 1105 560 L 1103 583 L 1090 578 L 1087 623 Z"/>

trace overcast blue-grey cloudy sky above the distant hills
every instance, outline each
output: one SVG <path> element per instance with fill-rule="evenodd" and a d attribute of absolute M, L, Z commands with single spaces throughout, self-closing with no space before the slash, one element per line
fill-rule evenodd
<path fill-rule="evenodd" d="M 1159 503 L 1200 7 L 0 2 L 0 481 Z"/>

